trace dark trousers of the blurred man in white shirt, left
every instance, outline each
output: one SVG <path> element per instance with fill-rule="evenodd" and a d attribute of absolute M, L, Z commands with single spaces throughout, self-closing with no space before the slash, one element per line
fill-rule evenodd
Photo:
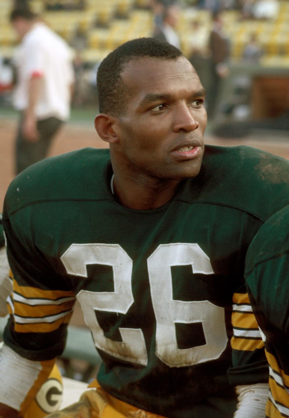
<path fill-rule="evenodd" d="M 51 140 L 62 123 L 62 120 L 56 117 L 39 120 L 37 122 L 39 139 L 37 142 L 29 142 L 23 137 L 23 118 L 21 118 L 16 138 L 16 174 L 46 157 Z"/>

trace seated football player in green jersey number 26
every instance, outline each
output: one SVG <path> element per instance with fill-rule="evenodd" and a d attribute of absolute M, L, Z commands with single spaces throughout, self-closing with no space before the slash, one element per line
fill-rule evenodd
<path fill-rule="evenodd" d="M 289 163 L 204 147 L 205 91 L 169 43 L 124 43 L 97 83 L 95 127 L 110 149 L 37 163 L 5 197 L 14 303 L 0 412 L 13 416 L 46 379 L 77 298 L 103 362 L 79 403 L 51 417 L 231 418 L 238 386 L 236 417 L 263 418 L 268 363 L 242 311 L 243 272 L 256 232 L 289 204 Z"/>

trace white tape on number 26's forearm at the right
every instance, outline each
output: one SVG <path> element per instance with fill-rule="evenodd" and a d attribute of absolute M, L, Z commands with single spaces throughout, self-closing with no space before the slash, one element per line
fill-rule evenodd
<path fill-rule="evenodd" d="M 236 386 L 236 393 L 238 405 L 234 418 L 264 418 L 269 395 L 268 383 Z"/>

